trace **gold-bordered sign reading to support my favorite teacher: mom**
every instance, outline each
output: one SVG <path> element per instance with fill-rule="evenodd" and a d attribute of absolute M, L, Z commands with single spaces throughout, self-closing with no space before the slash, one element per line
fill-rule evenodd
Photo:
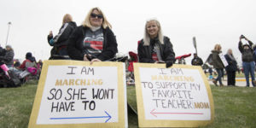
<path fill-rule="evenodd" d="M 201 67 L 135 64 L 140 127 L 197 127 L 213 121 L 212 93 Z"/>

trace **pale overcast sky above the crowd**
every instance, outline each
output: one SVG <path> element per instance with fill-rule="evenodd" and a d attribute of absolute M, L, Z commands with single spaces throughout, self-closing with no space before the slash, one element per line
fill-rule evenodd
<path fill-rule="evenodd" d="M 194 53 L 195 36 L 204 61 L 215 44 L 221 44 L 224 53 L 233 49 L 241 61 L 239 36 L 256 43 L 255 5 L 253 0 L 0 0 L 0 44 L 5 46 L 11 21 L 8 44 L 15 58 L 24 59 L 31 51 L 37 60 L 46 60 L 51 49 L 46 37 L 50 30 L 59 31 L 63 15 L 73 15 L 81 25 L 88 11 L 99 7 L 113 26 L 122 54 L 137 51 L 146 20 L 156 18 L 176 55 Z"/>

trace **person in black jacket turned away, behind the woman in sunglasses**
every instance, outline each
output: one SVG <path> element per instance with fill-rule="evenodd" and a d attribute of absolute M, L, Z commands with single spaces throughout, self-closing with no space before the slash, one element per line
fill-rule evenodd
<path fill-rule="evenodd" d="M 73 22 L 71 15 L 66 14 L 63 17 L 62 26 L 57 35 L 53 36 L 52 32 L 49 32 L 48 43 L 50 46 L 54 46 L 50 51 L 49 59 L 69 59 L 67 55 L 67 41 L 73 30 L 77 27 L 77 24 Z M 60 56 L 54 56 L 60 55 Z M 61 58 L 58 58 L 61 57 Z"/>

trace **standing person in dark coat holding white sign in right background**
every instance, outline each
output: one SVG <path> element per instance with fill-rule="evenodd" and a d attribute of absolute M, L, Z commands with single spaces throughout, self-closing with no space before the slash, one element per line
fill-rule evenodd
<path fill-rule="evenodd" d="M 226 55 L 224 55 L 226 61 L 228 62 L 228 66 L 225 67 L 227 75 L 228 75 L 228 85 L 236 85 L 236 70 L 237 70 L 237 62 L 235 57 L 233 56 L 232 49 L 228 49 Z"/>

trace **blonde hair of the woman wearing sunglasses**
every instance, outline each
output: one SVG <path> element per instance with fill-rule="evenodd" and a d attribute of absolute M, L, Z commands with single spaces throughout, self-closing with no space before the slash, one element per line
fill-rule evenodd
<path fill-rule="evenodd" d="M 82 23 L 82 25 L 83 25 L 84 27 L 85 27 L 85 26 L 91 27 L 91 24 L 90 24 L 90 14 L 91 14 L 95 9 L 100 13 L 100 15 L 103 16 L 102 27 L 103 27 L 104 29 L 106 29 L 107 27 L 112 28 L 112 26 L 111 26 L 110 23 L 108 22 L 106 16 L 103 14 L 102 10 L 101 10 L 100 8 L 98 8 L 98 7 L 95 7 L 95 8 L 93 8 L 93 9 L 90 9 L 90 11 L 89 11 L 89 13 L 87 14 L 87 16 L 85 17 L 84 22 Z"/>

